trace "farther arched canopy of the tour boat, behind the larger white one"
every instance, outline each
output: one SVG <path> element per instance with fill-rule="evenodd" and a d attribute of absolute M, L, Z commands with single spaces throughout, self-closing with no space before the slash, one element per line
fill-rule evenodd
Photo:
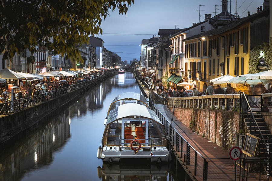
<path fill-rule="evenodd" d="M 147 100 L 144 96 L 142 96 L 141 94 L 135 93 L 135 92 L 126 92 L 126 93 L 120 94 L 119 96 L 114 98 L 114 100 L 112 101 L 112 103 L 108 109 L 108 113 L 110 112 L 110 110 L 113 110 L 113 108 L 112 108 L 113 104 L 118 102 L 119 100 L 138 100 L 138 101 L 142 102 L 145 106 L 148 107 Z M 114 108 L 115 108 L 115 106 L 114 106 Z"/>

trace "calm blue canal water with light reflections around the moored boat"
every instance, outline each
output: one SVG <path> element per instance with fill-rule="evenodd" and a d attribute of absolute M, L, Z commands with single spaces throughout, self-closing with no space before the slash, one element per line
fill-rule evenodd
<path fill-rule="evenodd" d="M 97 159 L 109 105 L 125 92 L 141 93 L 132 73 L 115 75 L 93 87 L 43 128 L 1 154 L 0 181 L 185 180 L 184 170 L 176 172 L 171 163 L 108 167 Z"/>

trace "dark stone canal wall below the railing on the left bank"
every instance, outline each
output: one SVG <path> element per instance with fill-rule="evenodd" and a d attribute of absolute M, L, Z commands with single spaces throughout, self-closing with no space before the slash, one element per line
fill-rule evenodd
<path fill-rule="evenodd" d="M 94 85 L 99 84 L 116 73 L 117 72 L 111 72 L 102 75 L 96 81 L 56 97 L 55 99 L 0 117 L 0 145 L 3 146 L 21 136 L 31 134 L 34 130 L 39 128 L 40 123 L 50 120 L 50 116 L 48 115 L 52 113 L 57 114 L 62 109 L 65 109 L 66 104 L 70 103 L 70 101 L 82 96 Z"/>

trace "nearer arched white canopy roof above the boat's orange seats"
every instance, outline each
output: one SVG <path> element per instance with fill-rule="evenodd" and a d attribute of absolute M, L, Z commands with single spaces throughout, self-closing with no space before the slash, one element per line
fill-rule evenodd
<path fill-rule="evenodd" d="M 115 122 L 117 119 L 134 118 L 134 116 L 141 116 L 141 118 L 152 119 L 160 124 L 160 119 L 154 111 L 140 104 L 123 104 L 111 110 L 108 114 L 106 125 Z M 106 127 L 105 127 L 106 128 Z"/>

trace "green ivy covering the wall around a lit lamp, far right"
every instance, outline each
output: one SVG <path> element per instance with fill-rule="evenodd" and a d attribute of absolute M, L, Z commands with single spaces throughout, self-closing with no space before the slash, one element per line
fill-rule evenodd
<path fill-rule="evenodd" d="M 248 74 L 261 72 L 258 70 L 260 51 L 264 52 L 264 60 L 269 70 L 272 70 L 272 37 L 270 37 L 269 44 L 264 43 L 249 51 L 249 69 Z"/>

